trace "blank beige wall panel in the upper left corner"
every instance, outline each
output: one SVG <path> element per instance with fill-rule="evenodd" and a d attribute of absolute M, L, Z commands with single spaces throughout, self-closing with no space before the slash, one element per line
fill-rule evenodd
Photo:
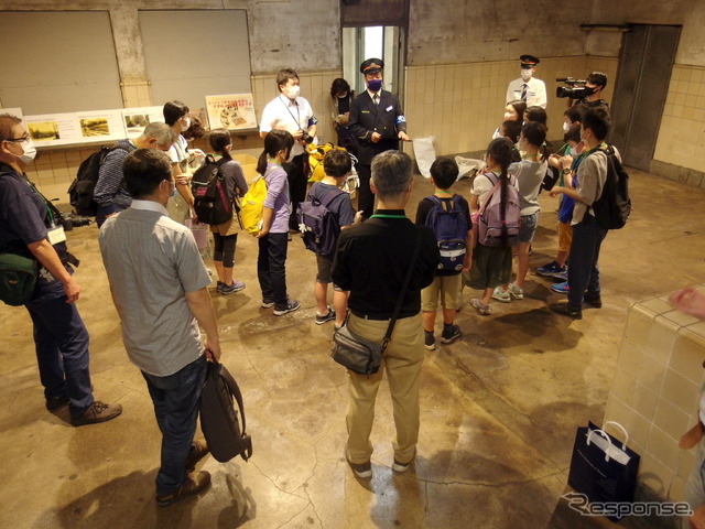
<path fill-rule="evenodd" d="M 120 108 L 107 11 L 2 12 L 0 101 L 24 114 Z"/>

